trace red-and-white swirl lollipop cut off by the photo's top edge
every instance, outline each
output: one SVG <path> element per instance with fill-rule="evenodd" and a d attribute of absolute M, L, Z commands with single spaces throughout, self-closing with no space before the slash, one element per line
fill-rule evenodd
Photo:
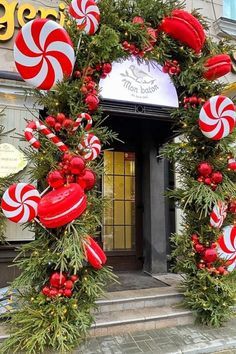
<path fill-rule="evenodd" d="M 100 11 L 94 0 L 72 0 L 69 13 L 86 34 L 94 34 L 99 26 Z"/>

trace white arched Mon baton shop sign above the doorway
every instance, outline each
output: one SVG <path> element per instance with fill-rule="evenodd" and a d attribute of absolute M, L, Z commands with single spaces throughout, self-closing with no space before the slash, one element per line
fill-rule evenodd
<path fill-rule="evenodd" d="M 179 107 L 178 95 L 168 74 L 154 61 L 130 57 L 112 64 L 112 72 L 100 80 L 103 99 Z"/>

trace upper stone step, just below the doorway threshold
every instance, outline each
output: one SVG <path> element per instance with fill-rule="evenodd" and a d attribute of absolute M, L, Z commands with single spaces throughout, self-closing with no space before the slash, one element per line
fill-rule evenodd
<path fill-rule="evenodd" d="M 176 288 L 151 288 L 107 293 L 105 298 L 97 301 L 98 312 L 134 310 L 146 307 L 163 307 L 180 303 L 183 300 Z"/>

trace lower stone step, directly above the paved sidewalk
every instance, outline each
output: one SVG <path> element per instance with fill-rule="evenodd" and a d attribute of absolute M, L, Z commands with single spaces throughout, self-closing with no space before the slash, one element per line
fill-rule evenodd
<path fill-rule="evenodd" d="M 103 312 L 96 315 L 91 336 L 117 335 L 156 328 L 192 324 L 191 311 L 174 306 L 144 307 L 134 310 Z"/>

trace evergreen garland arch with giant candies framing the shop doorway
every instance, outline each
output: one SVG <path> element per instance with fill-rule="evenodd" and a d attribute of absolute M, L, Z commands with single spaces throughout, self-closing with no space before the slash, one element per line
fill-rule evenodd
<path fill-rule="evenodd" d="M 180 138 L 162 155 L 177 163 L 181 176 L 169 194 L 185 211 L 182 234 L 172 237 L 185 301 L 201 323 L 228 319 L 235 295 L 235 109 L 215 80 L 231 70 L 231 48 L 206 38 L 206 21 L 183 9 L 172 0 L 72 0 L 65 29 L 36 19 L 18 34 L 16 66 L 40 89 L 34 95 L 45 116 L 25 130 L 30 176 L 40 192 L 15 184 L 1 203 L 11 221 L 27 222 L 36 235 L 16 261 L 22 270 L 12 284 L 18 306 L 2 352 L 76 347 L 113 277 L 93 238 L 104 205 L 95 186 L 103 173 L 101 145 L 116 138 L 103 125 L 98 83 L 112 62 L 131 55 L 161 64 L 179 95 L 171 117 Z"/>

